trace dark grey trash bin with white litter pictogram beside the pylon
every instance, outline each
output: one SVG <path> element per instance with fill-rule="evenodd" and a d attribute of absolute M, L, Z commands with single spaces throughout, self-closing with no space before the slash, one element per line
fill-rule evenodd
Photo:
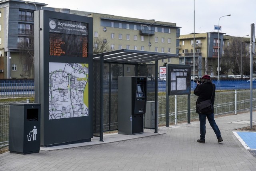
<path fill-rule="evenodd" d="M 10 153 L 30 154 L 39 150 L 40 103 L 10 103 Z"/>

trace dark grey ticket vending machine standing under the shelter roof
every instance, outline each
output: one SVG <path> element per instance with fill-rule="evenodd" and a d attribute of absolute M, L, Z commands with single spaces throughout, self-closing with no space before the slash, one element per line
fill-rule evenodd
<path fill-rule="evenodd" d="M 118 133 L 143 133 L 147 78 L 118 77 Z"/>

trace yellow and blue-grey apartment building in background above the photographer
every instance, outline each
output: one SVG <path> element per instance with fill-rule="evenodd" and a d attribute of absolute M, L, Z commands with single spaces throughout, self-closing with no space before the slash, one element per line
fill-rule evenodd
<path fill-rule="evenodd" d="M 218 67 L 218 49 L 222 52 L 225 33 L 207 32 L 180 35 L 179 64 L 195 65 L 195 75 L 216 75 Z M 195 50 L 194 50 L 195 48 Z M 219 54 L 220 58 L 222 53 Z M 195 64 L 193 64 L 195 57 Z"/>

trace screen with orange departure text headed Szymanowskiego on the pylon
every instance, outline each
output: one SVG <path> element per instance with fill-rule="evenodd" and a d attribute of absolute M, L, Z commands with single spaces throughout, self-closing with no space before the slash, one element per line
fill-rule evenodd
<path fill-rule="evenodd" d="M 49 19 L 50 56 L 88 57 L 88 24 Z"/>

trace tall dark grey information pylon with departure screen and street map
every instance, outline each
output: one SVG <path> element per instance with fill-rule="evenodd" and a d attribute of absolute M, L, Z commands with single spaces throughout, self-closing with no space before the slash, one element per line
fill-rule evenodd
<path fill-rule="evenodd" d="M 92 18 L 35 11 L 35 101 L 44 147 L 92 138 Z"/>

